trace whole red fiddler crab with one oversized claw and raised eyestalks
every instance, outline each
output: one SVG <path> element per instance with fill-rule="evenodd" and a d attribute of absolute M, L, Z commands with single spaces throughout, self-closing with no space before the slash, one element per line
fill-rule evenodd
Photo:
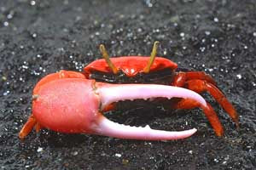
<path fill-rule="evenodd" d="M 118 101 L 133 99 L 163 102 L 172 109 L 200 107 L 215 133 L 222 136 L 223 127 L 212 106 L 201 97 L 202 92 L 211 94 L 238 126 L 236 110 L 212 77 L 202 71 L 178 71 L 176 63 L 155 57 L 158 44 L 154 42 L 150 57 L 111 59 L 101 45 L 104 59 L 87 65 L 84 73 L 59 71 L 42 78 L 33 89 L 32 115 L 20 130 L 20 139 L 24 139 L 33 127 L 37 132 L 45 127 L 62 133 L 148 140 L 183 139 L 196 132 L 195 128 L 167 132 L 148 126 L 130 127 L 102 116 L 102 112 L 113 110 Z"/>

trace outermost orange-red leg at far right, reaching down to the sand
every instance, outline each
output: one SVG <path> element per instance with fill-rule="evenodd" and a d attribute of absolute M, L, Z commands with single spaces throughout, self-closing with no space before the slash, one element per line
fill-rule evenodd
<path fill-rule="evenodd" d="M 224 96 L 224 94 L 216 88 L 212 83 L 203 80 L 190 80 L 186 82 L 187 88 L 197 92 L 209 92 L 214 99 L 221 105 L 224 110 L 230 115 L 232 120 L 236 122 L 236 127 L 238 127 L 238 115 L 236 113 L 233 105 L 230 104 L 229 100 Z"/>

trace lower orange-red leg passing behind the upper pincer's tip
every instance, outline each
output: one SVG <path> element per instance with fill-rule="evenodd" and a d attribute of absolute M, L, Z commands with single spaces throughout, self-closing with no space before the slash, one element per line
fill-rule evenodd
<path fill-rule="evenodd" d="M 216 112 L 213 110 L 210 104 L 207 103 L 206 107 L 200 105 L 193 99 L 180 99 L 180 101 L 178 101 L 177 103 L 172 104 L 173 109 L 194 109 L 195 107 L 200 107 L 204 111 L 216 135 L 222 136 L 224 134 L 224 129 L 218 120 Z"/>

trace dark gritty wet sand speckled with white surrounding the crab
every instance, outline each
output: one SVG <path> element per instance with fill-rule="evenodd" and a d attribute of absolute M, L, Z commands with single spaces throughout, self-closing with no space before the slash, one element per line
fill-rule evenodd
<path fill-rule="evenodd" d="M 240 0 L 0 1 L 0 169 L 253 169 L 256 167 L 256 3 Z M 137 141 L 44 130 L 18 139 L 32 88 L 61 69 L 81 71 L 101 58 L 160 56 L 206 71 L 240 115 L 240 130 L 209 96 L 225 136 L 200 109 L 134 108 L 113 121 L 166 130 L 198 128 L 178 141 Z"/>

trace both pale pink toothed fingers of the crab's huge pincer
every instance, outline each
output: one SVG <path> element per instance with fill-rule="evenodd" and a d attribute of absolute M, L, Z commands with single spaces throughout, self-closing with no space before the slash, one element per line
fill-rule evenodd
<path fill-rule="evenodd" d="M 98 85 L 99 87 L 96 88 L 96 94 L 100 96 L 102 104 L 101 109 L 120 100 L 152 99 L 159 97 L 167 99 L 194 99 L 201 105 L 207 105 L 207 102 L 200 94 L 196 94 L 186 88 L 154 84 Z M 120 139 L 172 140 L 188 138 L 196 132 L 196 129 L 193 128 L 180 132 L 169 132 L 164 130 L 154 130 L 148 125 L 146 127 L 131 127 L 117 122 L 112 122 L 105 116 L 101 115 L 94 131 L 96 134 Z"/>

